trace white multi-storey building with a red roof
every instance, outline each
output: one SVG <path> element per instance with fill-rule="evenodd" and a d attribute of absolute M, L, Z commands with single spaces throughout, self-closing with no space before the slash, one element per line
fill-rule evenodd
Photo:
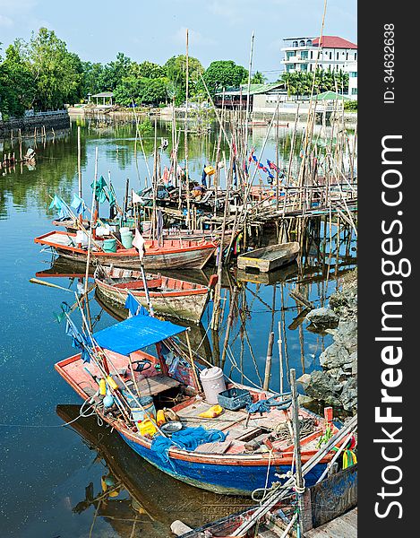
<path fill-rule="evenodd" d="M 345 71 L 348 63 L 357 61 L 357 45 L 338 36 L 322 36 L 321 46 L 319 38 L 290 38 L 284 41 L 285 47 L 281 50 L 285 56 L 281 63 L 285 65 L 287 73 L 314 71 L 316 67 Z"/>

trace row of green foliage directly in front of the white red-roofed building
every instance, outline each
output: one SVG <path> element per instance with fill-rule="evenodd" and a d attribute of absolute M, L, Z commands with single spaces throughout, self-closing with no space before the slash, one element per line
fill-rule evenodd
<path fill-rule="evenodd" d="M 313 86 L 313 77 L 315 77 Z M 279 78 L 287 89 L 288 95 L 310 95 L 313 87 L 314 93 L 323 91 L 337 91 L 345 93 L 348 88 L 348 74 L 343 71 L 330 71 L 317 69 L 311 71 L 297 71 L 296 73 L 283 73 Z"/>

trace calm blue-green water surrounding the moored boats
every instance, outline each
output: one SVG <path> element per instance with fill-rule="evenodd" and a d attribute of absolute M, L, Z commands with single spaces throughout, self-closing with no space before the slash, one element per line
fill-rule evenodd
<path fill-rule="evenodd" d="M 259 148 L 264 132 L 254 131 Z M 159 136 L 170 139 L 170 130 L 159 126 Z M 189 147 L 192 177 L 199 179 L 204 164 L 214 152 L 216 135 L 192 138 Z M 23 144 L 23 152 L 33 141 Z M 152 167 L 152 135 L 145 143 Z M 182 147 L 183 144 L 181 144 Z M 83 193 L 90 203 L 89 185 L 93 179 L 95 147 L 99 148 L 99 174 L 111 174 L 118 199 L 122 201 L 125 179 L 134 188 L 143 187 L 147 175 L 140 148 L 134 157 L 131 126 L 95 129 L 82 126 Z M 290 132 L 280 129 L 280 152 L 288 161 Z M 275 141 L 271 137 L 265 157 L 274 160 Z M 189 525 L 201 525 L 211 519 L 236 511 L 241 499 L 221 499 L 174 481 L 146 464 L 113 433 L 99 428 L 94 419 L 80 420 L 71 427 L 64 421 L 77 416 L 81 402 L 70 386 L 56 374 L 54 364 L 73 354 L 64 326 L 56 322 L 61 301 L 72 303 L 73 295 L 34 285 L 30 278 L 50 266 L 51 255 L 40 253 L 33 238 L 51 229 L 54 213 L 47 211 L 51 196 L 61 195 L 71 201 L 77 191 L 76 128 L 47 143 L 38 143 L 36 169 L 18 165 L 0 176 L 0 361 L 2 376 L 0 511 L 1 536 L 24 538 L 81 538 L 170 536 L 169 525 L 182 519 Z M 0 143 L 0 153 L 14 151 L 9 141 Z M 169 150 L 162 158 L 168 161 Z M 294 160 L 298 158 L 297 154 Z M 182 152 L 181 152 L 182 159 Z M 2 170 L 3 171 L 3 170 Z M 107 208 L 104 214 L 107 213 Z M 327 245 L 327 249 L 328 249 Z M 346 246 L 340 247 L 339 270 L 352 266 L 344 259 Z M 347 245 L 347 254 L 353 253 Z M 332 273 L 336 263 L 320 265 L 313 247 L 300 265 L 291 266 L 273 278 L 278 282 L 238 281 L 238 310 L 229 339 L 225 371 L 236 380 L 244 374 L 259 384 L 263 377 L 267 339 L 270 330 L 278 338 L 279 322 L 284 340 L 283 355 L 297 375 L 319 368 L 321 351 L 330 336 L 314 334 L 307 322 L 296 323 L 300 308 L 288 292 L 300 282 L 300 291 L 320 304 L 328 298 L 337 282 Z M 328 258 L 327 258 L 328 262 Z M 323 271 L 323 276 L 322 276 Z M 235 278 L 235 274 L 231 274 Z M 46 279 L 45 279 L 46 280 Z M 253 279 L 251 279 L 253 280 Z M 54 282 L 71 290 L 75 282 L 55 278 Z M 229 294 L 226 298 L 225 322 Z M 96 329 L 115 323 L 95 301 L 91 301 Z M 207 330 L 211 305 L 203 317 L 203 326 L 195 330 L 194 343 L 203 339 L 201 352 L 210 359 L 210 348 L 217 339 Z M 76 321 L 79 321 L 77 316 Z M 224 327 L 219 339 L 223 342 Z M 220 344 L 221 347 L 221 344 Z M 278 348 L 275 348 L 278 357 Z M 279 389 L 279 360 L 273 361 L 270 387 Z M 58 408 L 57 408 L 58 406 Z M 76 433 L 77 431 L 77 433 Z M 118 495 L 109 497 L 101 479 L 107 479 Z M 100 502 L 98 496 L 101 498 Z M 232 507 L 232 504 L 236 505 Z"/>

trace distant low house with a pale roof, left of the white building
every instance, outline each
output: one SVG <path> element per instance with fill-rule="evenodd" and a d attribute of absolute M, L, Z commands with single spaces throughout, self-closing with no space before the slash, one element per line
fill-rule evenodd
<path fill-rule="evenodd" d="M 275 102 L 285 100 L 287 91 L 284 90 L 282 82 L 271 82 L 268 84 L 250 84 L 249 88 L 249 108 L 255 111 L 256 101 Z M 241 84 L 239 88 L 228 88 L 227 91 L 216 93 L 214 104 L 217 108 L 222 108 L 224 102 L 228 109 L 246 109 L 248 98 L 248 84 Z"/>

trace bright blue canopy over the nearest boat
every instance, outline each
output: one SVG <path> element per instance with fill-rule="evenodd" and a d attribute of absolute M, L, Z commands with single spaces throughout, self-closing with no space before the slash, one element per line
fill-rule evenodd
<path fill-rule="evenodd" d="M 93 337 L 100 347 L 121 355 L 129 355 L 184 331 L 185 327 L 160 321 L 157 317 L 134 316 L 102 329 L 93 334 Z"/>

